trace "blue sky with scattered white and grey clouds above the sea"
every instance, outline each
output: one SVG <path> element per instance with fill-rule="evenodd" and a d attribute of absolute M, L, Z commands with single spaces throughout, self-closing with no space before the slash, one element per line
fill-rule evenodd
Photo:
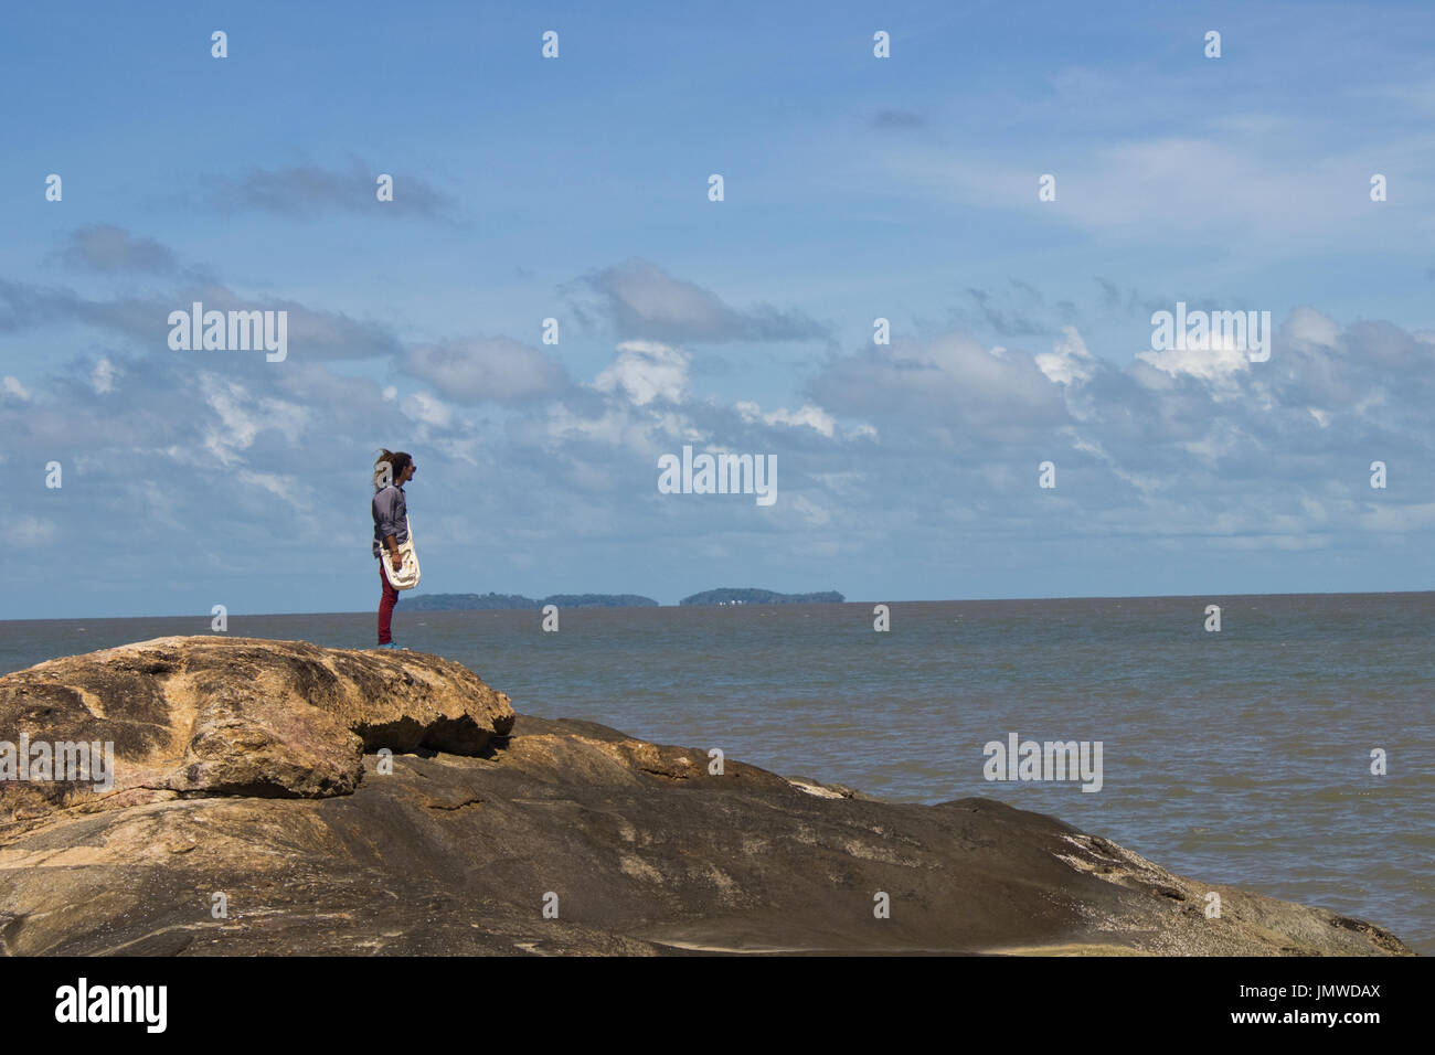
<path fill-rule="evenodd" d="M 1435 589 L 1428 3 L 32 4 L 0 89 L 0 619 L 372 609 L 379 448 L 425 593 Z"/>

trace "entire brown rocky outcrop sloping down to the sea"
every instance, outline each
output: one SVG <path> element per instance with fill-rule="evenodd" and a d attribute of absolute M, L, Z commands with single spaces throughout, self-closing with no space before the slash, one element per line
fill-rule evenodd
<path fill-rule="evenodd" d="M 0 792 L 16 955 L 1409 952 L 990 800 L 515 721 L 415 652 L 146 642 L 0 679 L 0 739 L 20 728 L 128 762 L 109 794 Z"/>

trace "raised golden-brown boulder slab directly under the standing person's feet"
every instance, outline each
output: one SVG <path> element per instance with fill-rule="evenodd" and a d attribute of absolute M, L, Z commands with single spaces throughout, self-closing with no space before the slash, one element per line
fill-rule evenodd
<path fill-rule="evenodd" d="M 364 751 L 475 754 L 512 723 L 504 693 L 438 656 L 159 637 L 0 679 L 0 739 L 113 744 L 115 756 L 103 789 L 89 779 L 98 759 L 83 781 L 0 781 L 0 820 L 181 795 L 347 795 Z"/>

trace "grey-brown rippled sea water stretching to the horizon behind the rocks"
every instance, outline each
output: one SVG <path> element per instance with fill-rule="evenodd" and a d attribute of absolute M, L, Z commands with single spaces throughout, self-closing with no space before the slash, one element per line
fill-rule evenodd
<path fill-rule="evenodd" d="M 400 601 L 395 637 L 521 712 L 884 798 L 990 795 L 1435 953 L 1435 594 L 890 607 L 888 633 L 852 603 L 574 609 L 544 633 L 538 611 Z M 0 623 L 0 672 L 178 633 L 210 633 L 210 616 Z M 228 633 L 372 647 L 375 616 L 231 616 Z M 1101 741 L 1101 791 L 987 781 L 983 745 L 1013 732 Z"/>

